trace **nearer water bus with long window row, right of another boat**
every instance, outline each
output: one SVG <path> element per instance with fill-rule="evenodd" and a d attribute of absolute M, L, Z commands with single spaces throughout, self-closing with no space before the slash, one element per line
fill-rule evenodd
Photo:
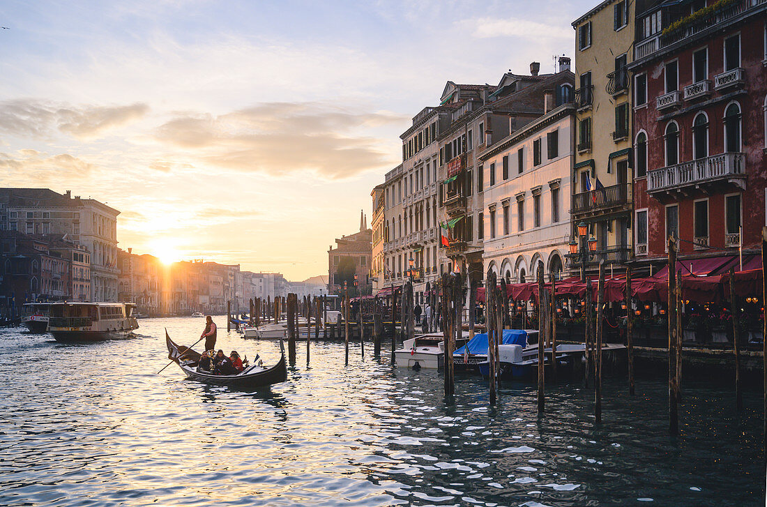
<path fill-rule="evenodd" d="M 48 332 L 56 341 L 127 338 L 138 329 L 131 303 L 51 303 Z"/>

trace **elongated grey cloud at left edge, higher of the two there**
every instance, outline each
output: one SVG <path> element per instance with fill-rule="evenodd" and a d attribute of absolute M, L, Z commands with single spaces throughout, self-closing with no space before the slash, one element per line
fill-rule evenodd
<path fill-rule="evenodd" d="M 74 107 L 43 100 L 5 100 L 0 102 L 0 131 L 44 139 L 58 130 L 77 140 L 87 140 L 140 119 L 148 111 L 149 106 L 143 103 Z"/>

